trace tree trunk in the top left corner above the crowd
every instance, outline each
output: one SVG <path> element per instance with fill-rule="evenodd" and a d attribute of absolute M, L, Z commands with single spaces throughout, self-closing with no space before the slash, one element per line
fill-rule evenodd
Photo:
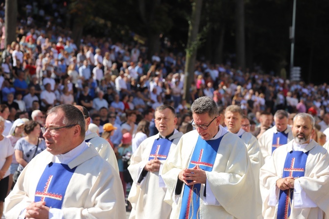
<path fill-rule="evenodd" d="M 17 0 L 6 0 L 5 7 L 4 48 L 16 41 Z"/>

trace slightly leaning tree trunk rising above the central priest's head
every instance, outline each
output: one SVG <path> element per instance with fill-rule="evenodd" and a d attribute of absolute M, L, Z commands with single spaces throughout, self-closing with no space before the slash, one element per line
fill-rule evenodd
<path fill-rule="evenodd" d="M 185 82 L 183 99 L 190 102 L 190 88 L 194 77 L 194 62 L 197 52 L 197 33 L 199 31 L 202 0 L 192 2 L 192 16 L 189 24 L 188 44 L 186 49 Z"/>

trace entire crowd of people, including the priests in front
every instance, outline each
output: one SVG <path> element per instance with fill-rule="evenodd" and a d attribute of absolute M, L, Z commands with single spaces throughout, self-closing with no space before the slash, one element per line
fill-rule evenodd
<path fill-rule="evenodd" d="M 0 216 L 14 184 L 5 203 L 8 218 L 48 212 L 124 218 L 124 202 L 136 219 L 275 218 L 285 214 L 283 199 L 294 188 L 304 192 L 298 197 L 307 204 L 290 197 L 288 216 L 329 215 L 323 192 L 329 158 L 319 146 L 328 148 L 327 83 L 198 60 L 191 99 L 184 100 L 182 53 L 162 47 L 148 58 L 136 42 L 92 36 L 77 46 L 69 32 L 52 24 L 63 12 L 57 6 L 57 20 L 50 16 L 46 27 L 37 27 L 31 14 L 44 12 L 28 4 L 17 40 L 1 44 Z M 4 36 L 3 20 L 0 26 Z M 291 151 L 297 153 L 284 160 Z M 284 172 L 294 167 L 292 159 L 306 168 L 302 175 Z M 63 187 L 74 182 L 79 188 L 58 190 L 65 199 L 53 203 L 52 193 L 38 190 L 52 174 L 58 182 L 65 181 L 60 174 L 69 179 Z"/>

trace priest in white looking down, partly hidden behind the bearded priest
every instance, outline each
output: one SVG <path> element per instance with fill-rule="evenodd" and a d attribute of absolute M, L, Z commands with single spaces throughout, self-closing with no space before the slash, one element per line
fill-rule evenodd
<path fill-rule="evenodd" d="M 274 126 L 258 138 L 260 151 L 266 162 L 273 151 L 293 139 L 291 127 L 288 126 L 288 113 L 279 109 L 274 114 Z"/>

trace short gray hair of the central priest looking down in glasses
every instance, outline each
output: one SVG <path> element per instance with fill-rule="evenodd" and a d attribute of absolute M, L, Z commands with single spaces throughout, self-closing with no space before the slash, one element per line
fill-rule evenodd
<path fill-rule="evenodd" d="M 218 116 L 218 107 L 215 101 L 206 96 L 196 99 L 191 106 L 191 110 L 193 114 L 208 113 L 210 117 Z"/>

